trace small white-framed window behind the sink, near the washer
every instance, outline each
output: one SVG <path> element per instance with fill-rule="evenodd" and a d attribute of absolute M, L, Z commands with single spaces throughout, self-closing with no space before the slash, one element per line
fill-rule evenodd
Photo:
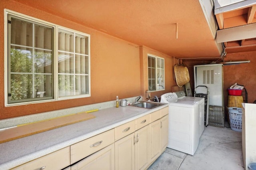
<path fill-rule="evenodd" d="M 164 58 L 148 54 L 148 90 L 164 90 Z"/>

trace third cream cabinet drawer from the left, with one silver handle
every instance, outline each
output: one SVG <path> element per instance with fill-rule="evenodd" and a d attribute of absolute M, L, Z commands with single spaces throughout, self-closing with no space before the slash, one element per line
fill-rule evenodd
<path fill-rule="evenodd" d="M 115 141 L 135 132 L 135 120 L 115 128 Z"/>

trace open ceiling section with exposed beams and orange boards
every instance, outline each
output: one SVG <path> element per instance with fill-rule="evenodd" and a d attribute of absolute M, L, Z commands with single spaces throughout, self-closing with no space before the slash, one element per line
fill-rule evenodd
<path fill-rule="evenodd" d="M 214 14 L 217 42 L 224 43 L 226 52 L 256 50 L 255 0 L 215 0 Z"/>

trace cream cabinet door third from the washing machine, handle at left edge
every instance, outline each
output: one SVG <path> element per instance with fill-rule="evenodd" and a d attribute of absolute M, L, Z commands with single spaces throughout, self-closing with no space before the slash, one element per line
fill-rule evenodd
<path fill-rule="evenodd" d="M 144 170 L 150 164 L 150 126 L 136 131 L 135 169 Z"/>

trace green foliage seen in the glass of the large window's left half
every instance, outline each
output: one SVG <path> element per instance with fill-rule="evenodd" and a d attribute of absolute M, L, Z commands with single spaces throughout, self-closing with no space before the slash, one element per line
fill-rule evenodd
<path fill-rule="evenodd" d="M 33 57 L 30 51 L 11 48 L 11 100 L 32 99 L 36 98 L 37 92 L 44 89 L 46 83 L 46 75 L 40 74 L 40 70 L 44 67 L 51 67 L 51 53 L 37 52 Z M 48 66 L 47 66 L 48 65 Z M 34 67 L 34 71 L 33 71 Z M 43 68 L 42 68 L 43 67 Z M 39 72 L 39 74 L 37 74 Z M 45 72 L 45 71 L 44 71 Z M 51 72 L 51 71 L 50 71 Z M 49 76 L 49 75 L 48 75 Z M 33 78 L 34 77 L 34 78 Z M 50 77 L 52 77 L 50 75 Z M 33 84 L 34 79 L 34 84 Z M 50 84 L 52 83 L 52 79 Z M 48 80 L 48 81 L 49 81 Z M 49 83 L 49 82 L 48 82 Z M 33 96 L 34 91 L 34 96 Z"/>

